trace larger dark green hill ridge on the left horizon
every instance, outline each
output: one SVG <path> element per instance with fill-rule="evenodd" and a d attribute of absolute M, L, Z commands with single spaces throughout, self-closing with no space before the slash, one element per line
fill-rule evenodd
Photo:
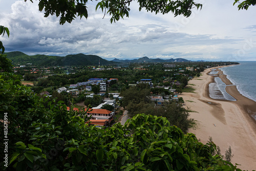
<path fill-rule="evenodd" d="M 88 65 L 113 65 L 114 61 L 105 60 L 96 55 L 84 55 L 82 53 L 67 56 L 48 56 L 48 55 L 26 55 L 22 52 L 8 52 L 7 58 L 11 59 L 14 65 L 40 66 L 88 66 Z"/>

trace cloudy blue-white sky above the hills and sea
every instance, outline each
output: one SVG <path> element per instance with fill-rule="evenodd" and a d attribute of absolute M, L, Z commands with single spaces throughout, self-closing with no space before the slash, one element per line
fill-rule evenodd
<path fill-rule="evenodd" d="M 256 61 L 256 7 L 238 10 L 234 0 L 195 0 L 203 4 L 189 17 L 139 11 L 131 3 L 129 18 L 110 23 L 110 16 L 89 1 L 88 18 L 59 25 L 44 17 L 38 1 L 0 0 L 1 36 L 6 52 L 66 56 L 92 54 L 107 60 L 185 58 L 206 61 Z M 103 18 L 104 16 L 104 18 Z"/>

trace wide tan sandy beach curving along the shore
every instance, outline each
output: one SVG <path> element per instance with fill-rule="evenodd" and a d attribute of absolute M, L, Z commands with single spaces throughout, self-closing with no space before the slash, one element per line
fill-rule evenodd
<path fill-rule="evenodd" d="M 206 143 L 209 137 L 221 149 L 222 155 L 230 146 L 233 164 L 241 164 L 241 169 L 256 169 L 256 121 L 250 116 L 256 112 L 256 102 L 242 96 L 236 86 L 216 67 L 219 76 L 226 83 L 226 92 L 237 101 L 216 100 L 209 97 L 209 83 L 214 76 L 208 75 L 211 69 L 202 72 L 202 76 L 189 80 L 188 86 L 196 89 L 195 93 L 182 93 L 185 105 L 190 108 L 190 117 L 198 121 L 194 133 L 201 142 Z"/>

